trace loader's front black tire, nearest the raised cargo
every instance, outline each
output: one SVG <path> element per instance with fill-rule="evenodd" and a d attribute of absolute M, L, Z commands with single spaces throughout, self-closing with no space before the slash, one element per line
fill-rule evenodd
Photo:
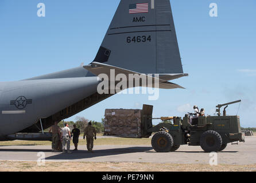
<path fill-rule="evenodd" d="M 172 135 L 168 132 L 157 132 L 151 140 L 152 148 L 156 152 L 169 152 L 173 146 Z"/>

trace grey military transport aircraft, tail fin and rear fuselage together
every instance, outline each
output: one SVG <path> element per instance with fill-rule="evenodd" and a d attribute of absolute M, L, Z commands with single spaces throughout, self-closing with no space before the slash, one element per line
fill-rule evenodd
<path fill-rule="evenodd" d="M 108 75 L 111 69 L 125 74 L 159 74 L 160 88 L 183 88 L 168 82 L 187 75 L 181 65 L 169 0 L 121 0 L 89 65 L 0 83 L 0 122 L 8 126 L 0 129 L 0 140 L 14 139 L 10 136 L 14 133 L 41 132 L 55 121 L 113 96 L 97 92 L 97 76 Z"/>

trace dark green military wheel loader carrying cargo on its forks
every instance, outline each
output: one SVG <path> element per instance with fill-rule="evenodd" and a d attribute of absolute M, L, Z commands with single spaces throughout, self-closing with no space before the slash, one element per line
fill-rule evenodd
<path fill-rule="evenodd" d="M 245 142 L 242 138 L 239 116 L 226 116 L 227 106 L 235 102 L 216 106 L 218 116 L 199 116 L 192 122 L 189 122 L 191 113 L 183 118 L 152 118 L 153 106 L 143 105 L 139 126 L 141 135 L 138 138 L 149 137 L 154 133 L 152 147 L 156 152 L 172 152 L 179 149 L 180 145 L 201 146 L 205 152 L 222 151 L 228 143 Z M 220 108 L 224 105 L 227 106 L 221 116 Z M 153 119 L 161 119 L 164 122 L 153 126 Z M 118 128 L 117 124 L 116 127 Z M 122 134 L 119 134 L 119 137 L 122 137 Z"/>

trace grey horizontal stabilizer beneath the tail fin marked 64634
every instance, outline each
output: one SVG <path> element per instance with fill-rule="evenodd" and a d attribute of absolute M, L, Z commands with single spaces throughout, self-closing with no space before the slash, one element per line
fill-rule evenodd
<path fill-rule="evenodd" d="M 157 77 L 152 77 L 152 75 L 156 75 L 156 74 L 150 74 L 150 75 L 141 74 L 141 73 L 137 73 L 135 71 L 122 69 L 120 67 L 107 65 L 107 64 L 104 64 L 104 63 L 92 62 L 91 65 L 84 66 L 84 69 L 87 69 L 88 71 L 90 71 L 91 73 L 93 73 L 97 76 L 99 76 L 100 74 L 106 74 L 110 80 L 112 78 L 115 79 L 118 74 L 125 74 L 126 78 L 129 80 L 129 77 L 130 77 L 129 74 L 131 74 L 131 75 L 139 75 L 140 77 L 146 77 L 147 81 L 152 81 L 151 85 L 149 83 L 146 86 L 141 85 L 143 87 L 159 87 L 161 89 L 174 89 L 174 88 L 184 89 L 184 87 L 182 87 L 180 85 L 177 85 L 175 83 L 168 82 L 164 79 L 160 79 L 160 78 L 157 78 Z M 111 73 L 111 70 L 114 70 L 114 72 L 112 71 L 112 73 Z M 111 75 L 111 74 L 114 74 L 114 75 Z M 140 77 L 138 77 L 138 79 L 140 79 Z M 180 77 L 182 77 L 182 76 L 180 76 Z M 136 79 L 136 78 L 133 78 L 133 79 Z M 159 81 L 159 86 L 157 86 L 154 83 L 154 82 L 157 82 L 157 81 Z M 136 87 L 136 86 L 134 86 L 134 87 Z"/>

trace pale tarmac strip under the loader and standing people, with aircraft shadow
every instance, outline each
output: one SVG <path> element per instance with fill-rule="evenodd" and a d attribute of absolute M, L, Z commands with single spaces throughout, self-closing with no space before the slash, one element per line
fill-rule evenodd
<path fill-rule="evenodd" d="M 245 137 L 246 142 L 238 145 L 228 144 L 218 152 L 218 164 L 251 165 L 256 164 L 256 137 Z M 74 147 L 71 146 L 71 149 Z M 152 162 L 168 164 L 209 164 L 210 153 L 204 153 L 200 146 L 183 145 L 176 152 L 157 153 L 151 146 L 141 145 L 98 145 L 94 152 L 88 152 L 85 145 L 71 154 L 51 152 L 51 146 L 0 146 L 0 161 L 37 161 L 43 156 L 45 161 L 82 162 Z"/>

